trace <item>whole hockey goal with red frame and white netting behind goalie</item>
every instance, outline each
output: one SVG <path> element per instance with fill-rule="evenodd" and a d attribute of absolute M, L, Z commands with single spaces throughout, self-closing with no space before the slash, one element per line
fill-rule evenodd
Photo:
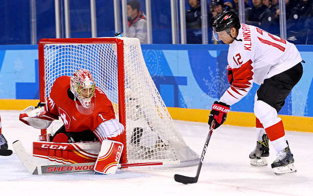
<path fill-rule="evenodd" d="M 91 71 L 125 126 L 121 163 L 197 164 L 199 155 L 183 141 L 143 59 L 138 39 L 43 39 L 39 43 L 40 101 L 59 76 Z M 53 122 L 47 132 L 56 131 Z M 42 133 L 44 131 L 42 130 Z"/>

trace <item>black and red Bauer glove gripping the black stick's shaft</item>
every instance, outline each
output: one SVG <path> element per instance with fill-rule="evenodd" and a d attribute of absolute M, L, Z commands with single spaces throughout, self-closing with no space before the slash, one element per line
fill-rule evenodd
<path fill-rule="evenodd" d="M 220 125 L 225 122 L 229 109 L 229 105 L 223 102 L 215 101 L 209 114 L 208 124 L 211 125 L 213 120 L 215 120 L 214 129 L 220 127 Z"/>

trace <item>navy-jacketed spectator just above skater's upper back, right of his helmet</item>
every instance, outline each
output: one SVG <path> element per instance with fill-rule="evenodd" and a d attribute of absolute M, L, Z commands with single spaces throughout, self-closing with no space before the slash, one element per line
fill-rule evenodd
<path fill-rule="evenodd" d="M 273 14 L 262 4 L 262 0 L 252 0 L 253 6 L 246 8 L 246 24 L 261 27 L 268 31 L 271 22 L 273 22 Z"/>

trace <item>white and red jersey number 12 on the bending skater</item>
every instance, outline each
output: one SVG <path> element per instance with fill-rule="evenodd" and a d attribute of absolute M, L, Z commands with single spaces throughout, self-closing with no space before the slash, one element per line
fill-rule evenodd
<path fill-rule="evenodd" d="M 302 61 L 294 44 L 247 24 L 241 24 L 237 39 L 229 44 L 227 70 L 232 70 L 233 82 L 220 101 L 233 105 L 265 79 L 290 69 Z"/>

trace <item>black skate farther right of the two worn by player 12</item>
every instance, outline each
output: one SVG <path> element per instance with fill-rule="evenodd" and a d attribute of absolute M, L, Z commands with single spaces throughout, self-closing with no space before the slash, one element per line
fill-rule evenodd
<path fill-rule="evenodd" d="M 286 141 L 287 142 L 287 141 Z M 287 142 L 288 145 L 288 142 Z M 293 154 L 291 154 L 289 145 L 284 150 L 277 152 L 276 160 L 271 164 L 276 175 L 283 175 L 297 172 L 294 167 Z"/>

